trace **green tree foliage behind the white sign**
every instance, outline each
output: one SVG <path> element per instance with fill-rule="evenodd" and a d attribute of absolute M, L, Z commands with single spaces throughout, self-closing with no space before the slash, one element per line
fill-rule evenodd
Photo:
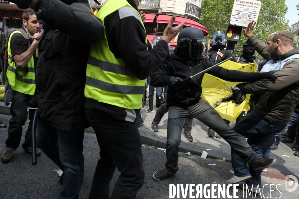
<path fill-rule="evenodd" d="M 262 7 L 260 10 L 257 26 L 253 30 L 253 35 L 267 43 L 268 36 L 279 30 L 289 29 L 288 21 L 285 21 L 287 13 L 286 0 L 260 0 Z M 225 32 L 230 15 L 233 9 L 234 0 L 202 0 L 201 3 L 201 23 L 209 29 L 207 36 L 211 38 L 216 30 Z M 297 5 L 299 9 L 299 5 Z M 242 34 L 241 41 L 235 46 L 235 54 L 242 53 L 243 43 L 247 40 Z M 261 58 L 260 56 L 258 56 Z"/>

